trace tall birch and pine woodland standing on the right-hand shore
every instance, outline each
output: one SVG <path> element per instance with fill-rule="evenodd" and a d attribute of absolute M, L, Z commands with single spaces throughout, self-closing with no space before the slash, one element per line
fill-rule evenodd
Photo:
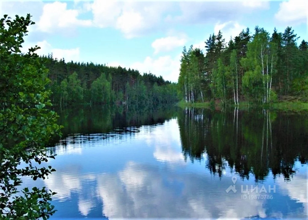
<path fill-rule="evenodd" d="M 221 31 L 205 41 L 205 54 L 184 47 L 179 94 L 186 102 L 220 100 L 269 104 L 278 99 L 308 100 L 308 43 L 298 46 L 291 27 L 270 34 L 249 28 L 225 42 Z"/>

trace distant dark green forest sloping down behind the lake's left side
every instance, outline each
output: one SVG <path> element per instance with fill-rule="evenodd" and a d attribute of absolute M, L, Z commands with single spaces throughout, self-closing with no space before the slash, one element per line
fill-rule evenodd
<path fill-rule="evenodd" d="M 127 104 L 142 107 L 177 101 L 176 84 L 152 73 L 93 63 L 42 57 L 49 69 L 52 103 L 61 108 L 75 104 Z"/>

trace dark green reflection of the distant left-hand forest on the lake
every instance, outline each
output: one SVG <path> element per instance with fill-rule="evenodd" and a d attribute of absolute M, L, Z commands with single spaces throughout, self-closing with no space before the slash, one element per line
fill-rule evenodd
<path fill-rule="evenodd" d="M 134 108 L 135 107 L 135 108 Z M 59 124 L 63 125 L 63 137 L 70 134 L 97 134 L 115 128 L 140 127 L 162 124 L 176 116 L 172 105 L 160 105 L 155 109 L 120 106 L 90 106 L 59 111 Z"/>

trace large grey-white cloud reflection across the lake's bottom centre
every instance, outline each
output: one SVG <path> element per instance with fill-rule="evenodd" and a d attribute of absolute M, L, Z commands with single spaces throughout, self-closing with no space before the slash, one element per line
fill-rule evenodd
<path fill-rule="evenodd" d="M 156 167 L 130 162 L 118 177 L 105 175 L 98 179 L 103 214 L 115 218 L 266 216 L 262 200 L 242 200 L 241 194 L 226 194 L 229 181 L 217 185 L 205 176 L 164 172 L 173 182 L 166 183 Z M 175 188 L 175 182 L 182 185 L 180 189 Z"/>

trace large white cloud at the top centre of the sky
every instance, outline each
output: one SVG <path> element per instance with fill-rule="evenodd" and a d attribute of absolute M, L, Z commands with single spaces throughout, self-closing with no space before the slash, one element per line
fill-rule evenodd
<path fill-rule="evenodd" d="M 114 2 L 95 0 L 91 6 L 93 24 L 100 28 L 114 27 L 126 38 L 138 37 L 160 29 L 164 12 L 172 2 Z"/>

